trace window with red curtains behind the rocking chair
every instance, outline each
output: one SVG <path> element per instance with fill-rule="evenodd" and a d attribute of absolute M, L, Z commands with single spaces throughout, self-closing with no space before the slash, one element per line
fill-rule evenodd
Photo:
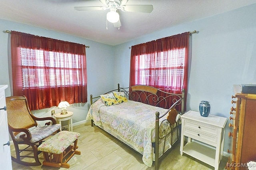
<path fill-rule="evenodd" d="M 13 95 L 31 110 L 87 102 L 85 45 L 11 33 Z"/>

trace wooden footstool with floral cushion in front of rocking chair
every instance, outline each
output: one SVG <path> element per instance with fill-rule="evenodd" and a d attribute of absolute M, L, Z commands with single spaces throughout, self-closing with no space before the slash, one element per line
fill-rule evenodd
<path fill-rule="evenodd" d="M 80 155 L 81 152 L 76 150 L 77 139 L 80 133 L 70 131 L 60 131 L 51 138 L 43 142 L 38 150 L 43 152 L 43 165 L 69 168 L 67 163 L 74 154 Z M 72 146 L 71 144 L 74 143 Z"/>

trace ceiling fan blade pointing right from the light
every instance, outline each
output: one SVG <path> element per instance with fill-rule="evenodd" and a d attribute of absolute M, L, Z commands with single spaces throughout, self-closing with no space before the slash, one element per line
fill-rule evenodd
<path fill-rule="evenodd" d="M 152 5 L 124 5 L 122 6 L 122 10 L 127 12 L 150 13 L 153 11 L 153 6 Z"/>

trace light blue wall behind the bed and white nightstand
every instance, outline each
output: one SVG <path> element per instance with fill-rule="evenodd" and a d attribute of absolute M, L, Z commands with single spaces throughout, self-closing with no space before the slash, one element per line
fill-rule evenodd
<path fill-rule="evenodd" d="M 256 84 L 256 4 L 154 32 L 117 45 L 114 84 L 129 85 L 128 47 L 158 38 L 197 30 L 192 34 L 187 111 L 199 111 L 201 100 L 210 101 L 212 115 L 230 117 L 234 84 Z M 118 72 L 118 73 L 117 73 Z M 224 152 L 230 148 L 226 126 Z"/>

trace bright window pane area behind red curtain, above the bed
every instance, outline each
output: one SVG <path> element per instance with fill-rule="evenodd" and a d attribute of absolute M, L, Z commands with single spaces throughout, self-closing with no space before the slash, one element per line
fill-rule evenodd
<path fill-rule="evenodd" d="M 150 60 L 151 56 L 152 54 L 136 56 L 135 84 L 157 84 L 162 90 L 170 90 L 170 87 L 173 91 L 179 90 L 184 80 L 185 48 L 155 53 L 154 62 Z"/>

